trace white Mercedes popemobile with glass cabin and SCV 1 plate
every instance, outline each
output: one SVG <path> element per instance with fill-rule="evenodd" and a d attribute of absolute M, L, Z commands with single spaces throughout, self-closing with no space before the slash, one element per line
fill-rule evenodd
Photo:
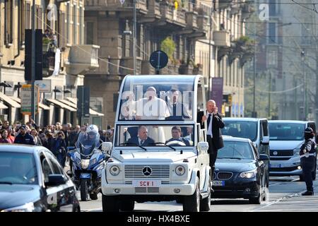
<path fill-rule="evenodd" d="M 206 131 L 196 123 L 205 109 L 202 76 L 126 76 L 120 88 L 114 146 L 102 174 L 102 210 L 134 210 L 135 201 L 183 203 L 208 211 L 211 167 Z"/>

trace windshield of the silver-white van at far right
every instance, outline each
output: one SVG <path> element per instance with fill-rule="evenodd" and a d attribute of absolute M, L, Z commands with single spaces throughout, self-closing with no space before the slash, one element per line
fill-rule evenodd
<path fill-rule="evenodd" d="M 302 141 L 305 124 L 269 123 L 269 140 L 271 141 Z"/>

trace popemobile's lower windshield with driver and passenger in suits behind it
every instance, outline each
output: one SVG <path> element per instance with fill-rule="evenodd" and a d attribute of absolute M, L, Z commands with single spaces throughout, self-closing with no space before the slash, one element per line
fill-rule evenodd
<path fill-rule="evenodd" d="M 116 146 L 193 146 L 193 125 L 119 125 Z"/>

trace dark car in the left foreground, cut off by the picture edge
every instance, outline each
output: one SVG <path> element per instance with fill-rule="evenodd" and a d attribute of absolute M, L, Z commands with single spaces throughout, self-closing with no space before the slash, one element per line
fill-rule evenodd
<path fill-rule="evenodd" d="M 80 211 L 54 155 L 35 145 L 0 145 L 0 212 Z"/>

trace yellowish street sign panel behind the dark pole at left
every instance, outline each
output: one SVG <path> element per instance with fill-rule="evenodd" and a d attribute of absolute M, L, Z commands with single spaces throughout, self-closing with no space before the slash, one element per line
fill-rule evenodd
<path fill-rule="evenodd" d="M 30 84 L 22 85 L 21 88 L 21 113 L 31 115 L 32 106 L 32 86 Z M 35 85 L 35 113 L 39 112 L 39 88 Z"/>

